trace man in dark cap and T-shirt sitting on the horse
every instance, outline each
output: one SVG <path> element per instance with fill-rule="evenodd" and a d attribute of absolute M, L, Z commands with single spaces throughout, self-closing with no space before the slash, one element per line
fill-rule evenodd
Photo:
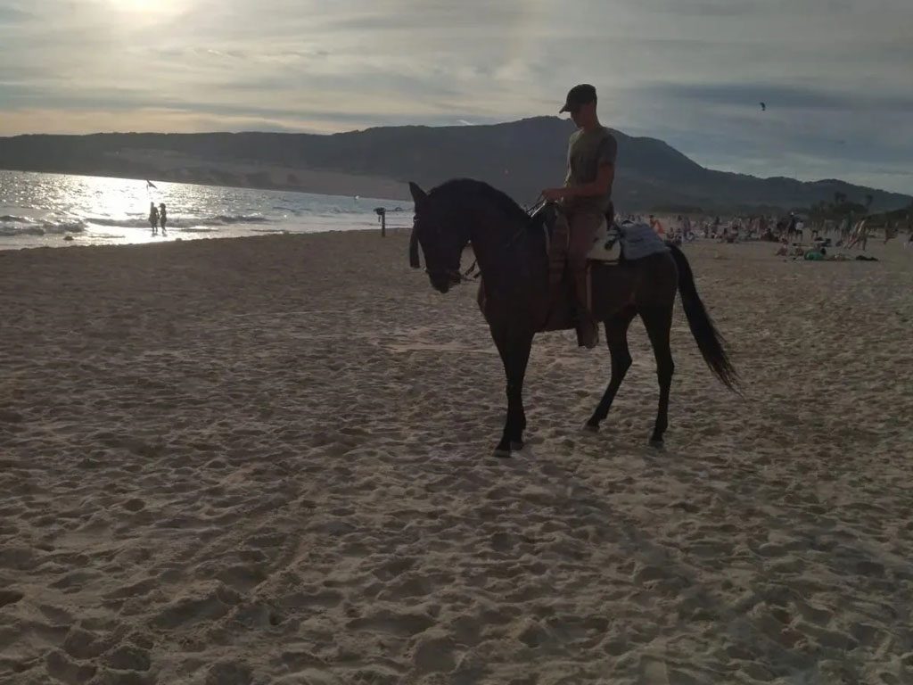
<path fill-rule="evenodd" d="M 568 142 L 568 171 L 561 188 L 546 188 L 546 200 L 560 201 L 571 229 L 568 268 L 577 300 L 577 326 L 581 346 L 592 349 L 599 329 L 588 305 L 587 253 L 612 206 L 612 182 L 618 143 L 596 114 L 596 89 L 588 83 L 574 86 L 561 112 L 570 112 L 577 125 Z"/>

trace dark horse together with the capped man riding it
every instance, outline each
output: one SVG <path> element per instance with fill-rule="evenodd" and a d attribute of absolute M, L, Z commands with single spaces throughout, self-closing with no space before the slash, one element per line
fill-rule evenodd
<path fill-rule="evenodd" d="M 638 257 L 628 254 L 612 265 L 598 261 L 587 264 L 593 238 L 605 216 L 611 215 L 609 198 L 616 145 L 612 134 L 596 117 L 593 86 L 574 87 L 561 110 L 571 112 L 580 130 L 571 137 L 566 184 L 547 189 L 542 195 L 551 201 L 561 200 L 571 219 L 576 311 L 571 311 L 565 300 L 564 284 L 552 278 L 560 275 L 562 265 L 552 259 L 559 250 L 551 249 L 551 234 L 540 230 L 540 223 L 509 195 L 467 178 L 447 181 L 429 192 L 418 184 L 409 184 L 415 201 L 410 265 L 420 269 L 420 253 L 424 253 L 428 280 L 435 290 L 444 293 L 467 277 L 460 269 L 460 259 L 468 244 L 477 258 L 483 279 L 478 292 L 479 309 L 488 322 L 507 380 L 508 411 L 495 448 L 499 457 L 509 457 L 523 448 L 523 382 L 533 337 L 541 332 L 566 331 L 576 325 L 588 329 L 587 337 L 581 338 L 589 347 L 596 341 L 595 321 L 604 324 L 612 354 L 611 378 L 593 416 L 586 422 L 587 430 L 598 430 L 608 416 L 631 366 L 627 331 L 631 321 L 639 316 L 656 356 L 659 383 L 659 405 L 650 444 L 663 445 L 675 372 L 669 333 L 677 291 L 704 361 L 724 385 L 736 390 L 738 384 L 723 338 L 698 297 L 694 274 L 679 248 L 660 246 L 661 250 Z M 589 297 L 587 290 L 592 290 Z"/>

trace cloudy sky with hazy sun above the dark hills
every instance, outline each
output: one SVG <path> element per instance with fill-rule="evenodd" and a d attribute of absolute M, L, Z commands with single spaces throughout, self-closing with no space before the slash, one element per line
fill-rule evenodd
<path fill-rule="evenodd" d="M 913 194 L 913 0 L 0 0 L 0 46 L 0 135 L 473 125 L 589 82 L 705 166 Z"/>

